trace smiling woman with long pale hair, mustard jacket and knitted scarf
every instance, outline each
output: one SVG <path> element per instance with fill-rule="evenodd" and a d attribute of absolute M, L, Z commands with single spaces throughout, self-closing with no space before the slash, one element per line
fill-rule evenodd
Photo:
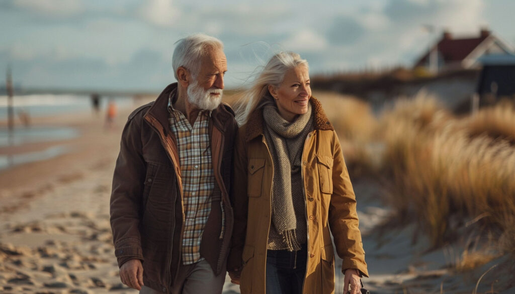
<path fill-rule="evenodd" d="M 234 157 L 233 283 L 243 294 L 334 293 L 332 232 L 345 285 L 359 293 L 368 273 L 356 199 L 336 132 L 311 96 L 307 62 L 274 55 L 246 94 Z"/>

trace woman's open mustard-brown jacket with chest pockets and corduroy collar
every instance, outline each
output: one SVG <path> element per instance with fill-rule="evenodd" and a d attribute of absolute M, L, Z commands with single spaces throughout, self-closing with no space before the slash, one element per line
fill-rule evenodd
<path fill-rule="evenodd" d="M 342 269 L 355 268 L 368 276 L 356 198 L 333 126 L 320 102 L 310 99 L 315 130 L 306 137 L 302 152 L 302 179 L 306 203 L 308 261 L 302 293 L 334 293 L 334 250 Z M 265 293 L 265 269 L 273 179 L 272 158 L 263 135 L 262 110 L 254 111 L 238 130 L 235 143 L 231 200 L 234 231 L 228 269 L 239 268 L 242 294 Z"/>

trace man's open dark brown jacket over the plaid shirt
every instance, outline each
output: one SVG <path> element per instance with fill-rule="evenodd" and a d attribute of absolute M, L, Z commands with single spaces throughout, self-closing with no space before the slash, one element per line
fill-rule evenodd
<path fill-rule="evenodd" d="M 111 228 L 118 266 L 143 261 L 145 286 L 169 293 L 180 263 L 184 222 L 181 171 L 176 139 L 168 123 L 168 85 L 155 102 L 136 109 L 125 125 L 111 194 Z M 227 258 L 233 211 L 229 200 L 234 113 L 220 105 L 209 123 L 215 174 L 212 209 L 202 235 L 200 254 L 219 273 Z M 221 208 L 225 234 L 221 232 Z"/>

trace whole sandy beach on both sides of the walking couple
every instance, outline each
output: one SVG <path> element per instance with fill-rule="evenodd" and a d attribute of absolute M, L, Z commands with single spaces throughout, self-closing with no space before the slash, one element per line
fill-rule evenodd
<path fill-rule="evenodd" d="M 119 109 L 109 129 L 104 127 L 103 114 L 90 112 L 35 118 L 34 125 L 72 127 L 80 135 L 0 148 L 1 154 L 52 146 L 68 150 L 49 160 L 0 171 L 0 293 L 138 292 L 119 281 L 109 224 L 112 172 L 121 131 L 133 108 Z M 470 293 L 477 276 L 491 266 L 465 278 L 453 275 L 452 256 L 445 250 L 420 254 L 426 244 L 420 238 L 414 245 L 414 227 L 389 234 L 375 231 L 389 213 L 379 200 L 381 187 L 366 179 L 353 184 L 371 273 L 364 282 L 372 293 L 402 293 L 407 288 L 435 293 L 442 285 L 449 290 L 446 293 Z M 337 293 L 342 292 L 340 264 L 335 261 Z M 484 279 L 493 281 L 495 276 Z M 226 279 L 224 293 L 239 289 Z"/>

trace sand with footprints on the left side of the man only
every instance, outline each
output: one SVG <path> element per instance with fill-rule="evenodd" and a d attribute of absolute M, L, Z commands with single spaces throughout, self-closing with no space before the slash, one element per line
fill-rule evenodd
<path fill-rule="evenodd" d="M 120 109 L 111 128 L 90 112 L 33 118 L 33 125 L 72 127 L 80 136 L 0 149 L 68 150 L 0 173 L 3 293 L 131 292 L 118 278 L 109 225 L 112 172 L 129 112 Z"/>

